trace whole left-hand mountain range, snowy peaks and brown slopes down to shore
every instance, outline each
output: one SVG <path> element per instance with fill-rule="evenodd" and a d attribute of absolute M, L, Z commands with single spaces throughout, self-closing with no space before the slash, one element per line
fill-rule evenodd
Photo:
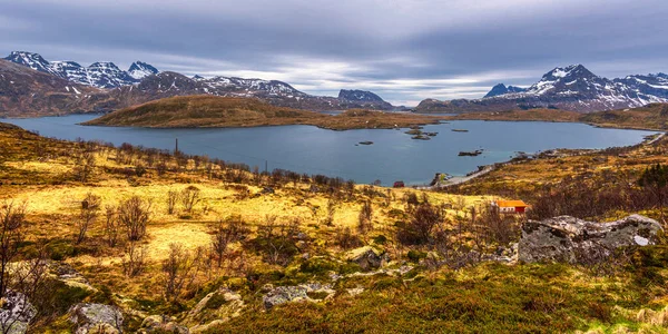
<path fill-rule="evenodd" d="M 311 110 L 395 109 L 370 91 L 342 90 L 338 97 L 314 96 L 283 81 L 188 78 L 177 72 L 160 72 L 141 61 L 134 62 L 125 71 L 112 62 L 82 67 L 75 61 L 48 61 L 38 53 L 26 51 L 13 51 L 4 60 L 0 61 L 0 116 L 107 112 L 160 98 L 189 95 L 254 97 L 274 106 Z M 16 67 L 17 63 L 23 68 Z M 38 81 L 51 85 L 33 85 Z M 17 90 L 19 86 L 21 89 Z M 59 97 L 61 102 L 49 102 L 43 100 L 46 97 Z"/>

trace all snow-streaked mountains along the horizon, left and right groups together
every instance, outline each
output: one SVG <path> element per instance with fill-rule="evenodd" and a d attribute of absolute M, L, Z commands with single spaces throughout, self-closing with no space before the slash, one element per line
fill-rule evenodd
<path fill-rule="evenodd" d="M 314 96 L 277 80 L 189 78 L 160 72 L 141 61 L 134 62 L 128 70 L 114 62 L 84 67 L 75 61 L 48 61 L 26 51 L 13 51 L 0 60 L 0 116 L 108 112 L 189 95 L 250 97 L 278 107 L 310 110 L 401 108 L 364 90 L 342 89 L 337 97 Z M 581 65 L 572 65 L 552 69 L 528 88 L 499 84 L 481 99 L 425 99 L 415 111 L 459 114 L 548 108 L 590 112 L 667 101 L 668 75 L 633 75 L 610 80 Z"/>

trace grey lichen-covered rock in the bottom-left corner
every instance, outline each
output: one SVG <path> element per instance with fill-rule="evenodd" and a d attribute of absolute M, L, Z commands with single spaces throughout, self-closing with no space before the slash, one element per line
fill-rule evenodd
<path fill-rule="evenodd" d="M 0 303 L 0 333 L 26 333 L 28 324 L 37 314 L 26 295 L 8 291 Z"/>

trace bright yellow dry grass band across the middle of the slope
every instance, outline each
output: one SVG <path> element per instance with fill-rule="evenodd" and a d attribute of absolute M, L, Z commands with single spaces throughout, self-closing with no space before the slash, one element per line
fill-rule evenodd
<path fill-rule="evenodd" d="M 237 193 L 233 189 L 226 189 L 219 183 L 200 183 L 195 186 L 200 189 L 200 203 L 196 205 L 193 213 L 183 212 L 181 205 L 177 204 L 178 213 L 176 215 L 167 214 L 166 194 L 169 190 L 180 191 L 191 184 L 151 184 L 148 186 L 130 187 L 125 180 L 106 180 L 94 186 L 49 186 L 49 187 L 26 187 L 13 196 L 13 200 L 26 203 L 28 214 L 32 217 L 56 217 L 56 222 L 50 223 L 50 230 L 57 234 L 63 234 L 62 237 L 69 237 L 73 234 L 73 224 L 71 223 L 78 214 L 80 203 L 88 193 L 100 196 L 102 206 L 118 205 L 132 196 L 139 196 L 151 202 L 151 222 L 148 225 L 149 248 L 151 258 L 160 259 L 167 255 L 170 243 L 180 243 L 187 248 L 205 246 L 209 243 L 207 234 L 208 225 L 218 219 L 232 215 L 240 215 L 249 225 L 256 225 L 264 222 L 268 215 L 276 216 L 278 222 L 287 223 L 298 219 L 303 228 L 313 230 L 320 226 L 326 217 L 327 200 L 322 195 L 308 195 L 303 198 L 302 204 L 291 191 L 278 189 L 274 195 L 262 195 L 255 198 L 238 199 Z M 249 187 L 252 194 L 259 191 L 259 188 Z M 412 189 L 392 189 L 396 200 L 390 203 L 390 206 L 383 207 L 374 202 L 374 224 L 379 226 L 390 225 L 394 219 L 385 215 L 392 208 L 403 209 L 403 196 Z M 415 191 L 422 196 L 422 191 Z M 450 203 L 455 207 L 478 206 L 489 202 L 491 197 L 487 196 L 459 196 L 448 194 L 430 193 L 428 195 L 431 203 Z M 377 202 L 377 200 L 376 200 Z M 334 215 L 335 227 L 355 227 L 357 224 L 361 203 L 341 203 Z M 315 215 L 312 208 L 316 207 Z M 448 210 L 449 215 L 463 215 L 461 210 Z M 179 218 L 180 217 L 180 218 Z M 101 228 L 102 217 L 98 219 L 97 228 Z M 36 225 L 38 226 L 38 225 Z M 42 227 L 40 227 L 42 228 Z M 68 234 L 69 233 L 69 234 Z"/>

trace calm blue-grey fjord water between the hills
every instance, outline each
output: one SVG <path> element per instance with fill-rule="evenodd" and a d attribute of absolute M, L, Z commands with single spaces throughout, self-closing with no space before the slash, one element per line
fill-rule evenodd
<path fill-rule="evenodd" d="M 324 174 L 357 183 L 394 180 L 429 183 L 435 173 L 464 175 L 480 165 L 510 159 L 518 151 L 537 153 L 552 148 L 606 148 L 640 143 L 652 131 L 603 129 L 582 124 L 533 121 L 460 120 L 429 125 L 432 140 L 413 140 L 406 129 L 332 131 L 313 126 L 279 126 L 227 129 L 147 129 L 79 126 L 89 115 L 0 119 L 46 137 L 82 138 L 120 145 L 129 143 L 208 155 L 264 169 L 283 168 Z M 452 129 L 466 129 L 455 132 Z M 356 145 L 370 140 L 373 145 Z M 459 157 L 461 150 L 484 149 L 478 157 Z"/>

